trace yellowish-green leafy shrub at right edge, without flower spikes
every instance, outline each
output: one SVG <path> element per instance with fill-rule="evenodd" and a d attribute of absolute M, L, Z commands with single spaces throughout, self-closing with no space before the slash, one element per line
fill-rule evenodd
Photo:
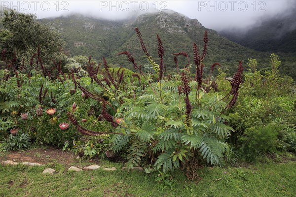
<path fill-rule="evenodd" d="M 278 57 L 271 55 L 270 68 L 264 72 L 256 70 L 256 60 L 249 61 L 250 72 L 245 73 L 245 81 L 239 90 L 240 97 L 229 110 L 229 124 L 235 130 L 231 133 L 230 141 L 234 145 L 245 131 L 255 125 L 264 127 L 278 118 L 291 127 L 296 122 L 295 86 L 291 77 L 279 74 L 281 62 Z"/>

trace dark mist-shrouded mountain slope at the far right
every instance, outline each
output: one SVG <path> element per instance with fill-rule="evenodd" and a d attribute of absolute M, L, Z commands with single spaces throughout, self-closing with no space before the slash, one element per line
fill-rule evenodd
<path fill-rule="evenodd" d="M 246 30 L 223 30 L 219 32 L 236 43 L 258 51 L 296 52 L 296 10 L 263 17 Z"/>

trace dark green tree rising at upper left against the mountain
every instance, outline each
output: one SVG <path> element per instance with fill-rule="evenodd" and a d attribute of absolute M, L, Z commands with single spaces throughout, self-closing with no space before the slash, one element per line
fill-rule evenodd
<path fill-rule="evenodd" d="M 65 42 L 60 34 L 37 21 L 34 14 L 18 13 L 15 10 L 3 10 L 0 16 L 0 49 L 6 49 L 6 57 L 13 53 L 21 60 L 30 62 L 31 56 L 40 48 L 40 57 L 44 64 L 52 64 L 62 55 Z M 20 61 L 20 60 L 19 60 Z"/>

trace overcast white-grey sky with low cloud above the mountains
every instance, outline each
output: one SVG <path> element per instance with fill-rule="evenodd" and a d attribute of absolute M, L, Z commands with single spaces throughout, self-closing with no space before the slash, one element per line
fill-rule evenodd
<path fill-rule="evenodd" d="M 218 31 L 228 27 L 249 27 L 262 17 L 296 10 L 295 0 L 1 0 L 0 5 L 34 13 L 39 19 L 81 13 L 118 20 L 139 13 L 171 9 Z"/>

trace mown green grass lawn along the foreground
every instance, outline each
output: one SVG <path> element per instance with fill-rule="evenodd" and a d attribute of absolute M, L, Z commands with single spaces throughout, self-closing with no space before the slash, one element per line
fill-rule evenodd
<path fill-rule="evenodd" d="M 116 164 L 115 164 L 116 166 Z M 173 187 L 155 181 L 158 173 L 117 171 L 68 172 L 57 164 L 54 175 L 42 167 L 0 165 L 1 197 L 296 197 L 296 163 L 249 167 L 205 167 L 195 184 L 175 171 Z M 116 167 L 119 168 L 119 165 Z M 159 178 L 159 177 L 158 177 Z"/>

